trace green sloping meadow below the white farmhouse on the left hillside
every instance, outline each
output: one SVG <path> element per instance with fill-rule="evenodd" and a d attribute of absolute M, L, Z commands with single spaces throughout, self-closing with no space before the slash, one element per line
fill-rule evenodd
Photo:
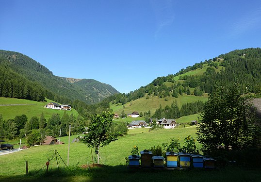
<path fill-rule="evenodd" d="M 26 99 L 15 99 L 15 98 L 4 98 L 0 97 L 0 114 L 3 117 L 3 120 L 14 119 L 15 116 L 26 115 L 28 119 L 31 119 L 33 116 L 40 117 L 42 113 L 46 119 L 49 119 L 53 114 L 64 115 L 63 110 L 48 109 L 44 107 L 52 100 L 46 99 L 45 102 L 37 102 L 33 100 Z M 10 104 L 24 104 L 24 105 L 10 105 Z M 9 106 L 1 106 L 9 105 Z M 71 111 L 66 111 L 68 115 L 71 113 L 77 117 L 78 112 L 72 108 Z"/>

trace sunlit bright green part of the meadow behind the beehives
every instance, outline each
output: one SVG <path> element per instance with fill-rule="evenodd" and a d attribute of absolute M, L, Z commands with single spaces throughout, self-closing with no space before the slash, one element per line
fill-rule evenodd
<path fill-rule="evenodd" d="M 129 134 L 119 137 L 117 141 L 110 143 L 100 149 L 100 163 L 104 165 L 124 165 L 125 157 L 130 155 L 130 151 L 134 145 L 138 146 L 139 150 L 148 149 L 152 146 L 162 146 L 163 142 L 169 142 L 170 138 L 180 139 L 183 144 L 183 139 L 191 134 L 196 138 L 196 127 L 186 127 L 177 129 L 159 129 L 149 132 L 146 128 L 130 129 Z M 70 140 L 77 136 L 71 136 Z M 59 152 L 63 160 L 67 162 L 68 136 L 61 137 L 61 141 L 65 145 L 48 145 L 35 146 L 30 149 L 21 150 L 19 152 L 10 153 L 0 156 L 1 175 L 12 176 L 21 175 L 25 172 L 25 161 L 29 163 L 29 170 L 38 170 L 47 162 L 47 154 L 55 149 Z M 197 143 L 199 147 L 199 144 Z M 91 150 L 82 143 L 71 143 L 69 150 L 69 165 L 84 165 L 92 164 Z M 16 167 L 14 167 L 16 166 Z M 50 168 L 56 168 L 55 161 L 51 161 Z"/>

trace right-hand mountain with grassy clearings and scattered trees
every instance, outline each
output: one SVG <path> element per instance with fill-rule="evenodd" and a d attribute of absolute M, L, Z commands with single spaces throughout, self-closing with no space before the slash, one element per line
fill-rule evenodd
<path fill-rule="evenodd" d="M 233 50 L 183 68 L 176 74 L 158 77 L 135 91 L 116 94 L 107 100 L 118 115 L 122 111 L 126 114 L 150 111 L 153 115 L 160 105 L 167 112 L 169 107 L 166 106 L 175 101 L 179 109 L 186 103 L 206 101 L 216 82 L 242 83 L 247 92 L 260 94 L 261 49 Z"/>

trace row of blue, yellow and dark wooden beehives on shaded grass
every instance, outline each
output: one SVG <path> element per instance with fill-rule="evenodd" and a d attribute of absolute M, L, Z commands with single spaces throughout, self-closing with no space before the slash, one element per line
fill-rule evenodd
<path fill-rule="evenodd" d="M 151 151 L 141 151 L 141 156 L 139 155 L 130 155 L 129 156 L 129 166 L 138 167 L 151 167 L 152 161 L 154 167 L 164 167 L 165 158 L 162 156 L 153 156 Z M 152 159 L 152 161 L 151 161 Z M 169 168 L 215 168 L 216 160 L 212 158 L 207 158 L 203 155 L 190 154 L 190 153 L 176 153 L 176 152 L 166 152 L 166 167 Z"/>

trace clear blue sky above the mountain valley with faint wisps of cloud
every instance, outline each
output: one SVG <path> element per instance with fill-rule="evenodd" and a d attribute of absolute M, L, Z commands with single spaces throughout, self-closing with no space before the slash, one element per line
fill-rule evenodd
<path fill-rule="evenodd" d="M 1 0 L 0 49 L 128 93 L 261 47 L 261 0 Z"/>

